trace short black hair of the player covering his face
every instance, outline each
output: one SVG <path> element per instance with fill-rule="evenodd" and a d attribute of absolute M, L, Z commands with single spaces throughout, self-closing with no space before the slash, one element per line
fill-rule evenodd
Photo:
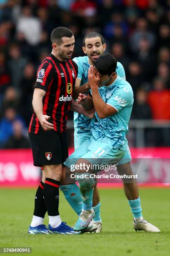
<path fill-rule="evenodd" d="M 102 54 L 94 65 L 100 74 L 110 76 L 112 72 L 116 72 L 117 59 L 111 54 Z"/>

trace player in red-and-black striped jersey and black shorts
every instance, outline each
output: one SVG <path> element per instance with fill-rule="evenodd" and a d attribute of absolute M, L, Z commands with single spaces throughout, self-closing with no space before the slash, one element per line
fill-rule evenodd
<path fill-rule="evenodd" d="M 62 164 L 68 157 L 67 115 L 78 71 L 77 64 L 71 60 L 75 39 L 69 29 L 59 27 L 52 31 L 51 42 L 52 52 L 37 70 L 32 100 L 34 113 L 29 125 L 29 138 L 34 165 L 44 168 L 45 181 L 40 182 L 35 195 L 34 215 L 28 233 L 77 234 L 62 222 L 58 211 Z M 82 106 L 77 108 L 76 102 L 72 108 L 84 112 Z M 43 224 L 46 211 L 48 228 Z"/>

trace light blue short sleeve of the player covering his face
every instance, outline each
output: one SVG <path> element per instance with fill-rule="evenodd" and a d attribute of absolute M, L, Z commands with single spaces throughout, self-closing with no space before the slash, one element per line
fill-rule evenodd
<path fill-rule="evenodd" d="M 127 87 L 118 88 L 106 103 L 119 112 L 122 108 L 133 105 L 133 90 Z"/>

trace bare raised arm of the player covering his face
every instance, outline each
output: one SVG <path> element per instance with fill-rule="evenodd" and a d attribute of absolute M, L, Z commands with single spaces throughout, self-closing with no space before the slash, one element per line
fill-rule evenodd
<path fill-rule="evenodd" d="M 92 90 L 92 99 L 95 107 L 95 111 L 100 119 L 107 118 L 111 115 L 115 115 L 117 110 L 112 106 L 106 104 L 98 90 L 98 84 L 100 81 L 99 73 L 95 74 L 94 67 L 90 67 L 88 70 L 88 79 Z"/>

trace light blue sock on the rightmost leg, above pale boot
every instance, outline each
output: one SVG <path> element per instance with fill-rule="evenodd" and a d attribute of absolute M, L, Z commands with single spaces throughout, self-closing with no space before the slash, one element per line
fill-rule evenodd
<path fill-rule="evenodd" d="M 140 197 L 138 197 L 138 199 L 135 200 L 128 200 L 128 203 L 130 205 L 131 212 L 133 213 L 135 223 L 139 223 L 141 220 L 143 220 L 142 208 L 140 205 Z"/>

